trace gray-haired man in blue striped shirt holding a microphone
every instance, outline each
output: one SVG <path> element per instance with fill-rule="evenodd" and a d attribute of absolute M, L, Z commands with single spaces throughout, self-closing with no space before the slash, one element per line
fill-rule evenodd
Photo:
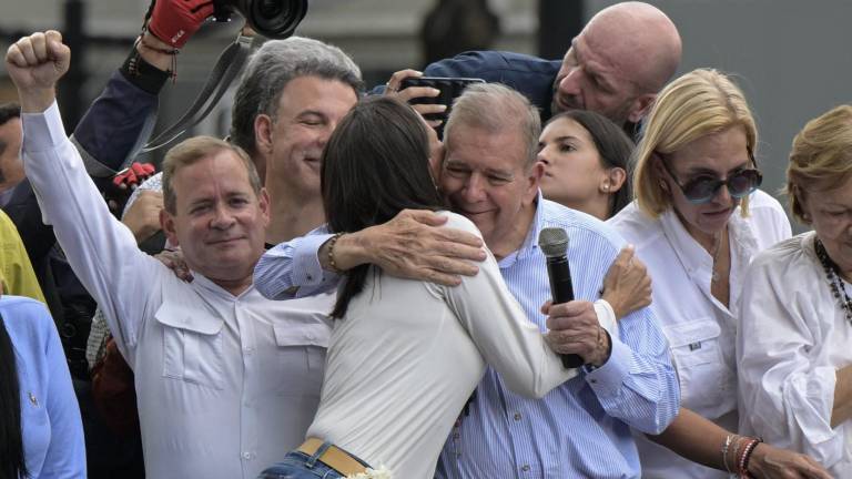
<path fill-rule="evenodd" d="M 529 319 L 542 332 L 561 323 L 551 335 L 555 348 L 581 356 L 587 365 L 539 400 L 515 395 L 489 369 L 469 414 L 448 438 L 440 478 L 640 477 L 630 429 L 659 434 L 678 411 L 677 378 L 651 310 L 619 312 L 611 334 L 598 323 L 590 302 L 599 297 L 625 242 L 604 223 L 541 197 L 542 169 L 535 161 L 539 131 L 538 113 L 519 93 L 497 84 L 468 88 L 447 122 L 439 184 L 452 210 L 481 231 Z M 375 263 L 390 274 L 449 284 L 453 276 L 437 269 L 470 273 L 446 258 L 430 263 L 430 256 L 448 251 L 416 222 L 439 223 L 429 213 L 406 212 L 386 225 L 338 237 L 336 268 Z M 548 317 L 540 308 L 550 288 L 536 243 L 540 230 L 552 226 L 565 228 L 571 240 L 568 258 L 578 299 L 550 307 Z M 458 233 L 443 234 L 465 241 Z M 255 269 L 258 289 L 284 298 L 293 286 L 300 294 L 329 287 L 336 275 L 327 264 L 327 240 L 310 235 L 267 252 Z M 468 241 L 447 247 L 455 248 L 454 256 L 475 258 L 477 246 Z M 410 267 L 418 264 L 426 266 Z M 475 266 L 466 267 L 475 273 Z"/>

